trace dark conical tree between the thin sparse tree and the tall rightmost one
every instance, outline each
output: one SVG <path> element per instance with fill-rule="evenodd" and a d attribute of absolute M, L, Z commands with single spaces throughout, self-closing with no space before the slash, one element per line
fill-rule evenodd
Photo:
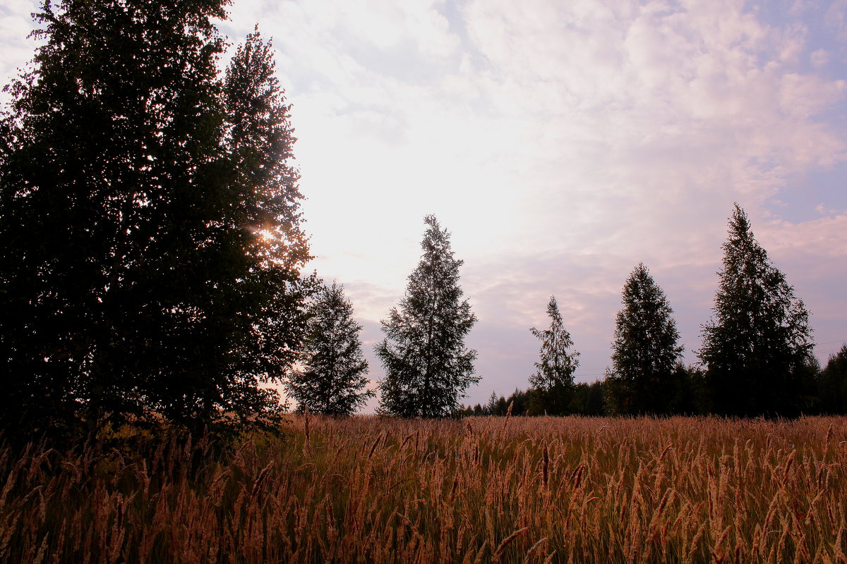
<path fill-rule="evenodd" d="M 673 309 L 639 263 L 623 285 L 615 319 L 607 401 L 615 413 L 673 413 L 683 348 Z"/>

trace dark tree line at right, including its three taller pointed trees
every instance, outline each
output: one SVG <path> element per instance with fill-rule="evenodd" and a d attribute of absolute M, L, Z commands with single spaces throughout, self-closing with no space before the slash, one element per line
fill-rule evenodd
<path fill-rule="evenodd" d="M 615 320 L 612 367 L 602 381 L 573 382 L 579 353 L 551 298 L 537 371 L 526 391 L 492 393 L 463 415 L 672 415 L 794 417 L 847 413 L 847 344 L 821 370 L 812 355 L 809 314 L 772 265 L 735 206 L 712 319 L 702 328 L 700 364 L 684 366 L 665 293 L 643 264 L 623 286 Z"/>

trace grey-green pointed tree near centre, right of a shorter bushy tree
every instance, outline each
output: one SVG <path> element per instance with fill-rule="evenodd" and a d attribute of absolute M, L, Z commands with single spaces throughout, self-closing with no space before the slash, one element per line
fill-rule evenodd
<path fill-rule="evenodd" d="M 376 353 L 385 367 L 379 382 L 380 413 L 400 417 L 446 417 L 459 407 L 462 392 L 479 376 L 473 375 L 476 351 L 464 339 L 476 317 L 462 301 L 459 266 L 450 235 L 435 216 L 421 247 L 424 253 L 409 276 L 400 308 L 381 321 L 385 339 Z"/>

